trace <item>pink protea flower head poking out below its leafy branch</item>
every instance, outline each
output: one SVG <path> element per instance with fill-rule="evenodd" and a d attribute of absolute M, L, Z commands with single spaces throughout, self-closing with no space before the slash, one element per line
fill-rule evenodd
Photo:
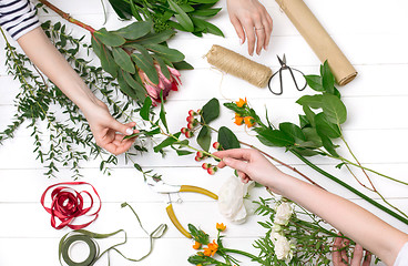
<path fill-rule="evenodd" d="M 139 76 L 142 80 L 144 88 L 147 91 L 147 95 L 152 99 L 153 105 L 157 105 L 161 102 L 160 100 L 160 92 L 163 91 L 163 100 L 166 100 L 169 96 L 170 91 L 178 91 L 178 85 L 182 83 L 180 80 L 180 72 L 173 68 L 167 65 L 170 72 L 170 80 L 165 78 L 163 74 L 160 65 L 154 62 L 154 68 L 156 69 L 159 75 L 159 84 L 154 84 L 142 71 L 139 70 Z"/>

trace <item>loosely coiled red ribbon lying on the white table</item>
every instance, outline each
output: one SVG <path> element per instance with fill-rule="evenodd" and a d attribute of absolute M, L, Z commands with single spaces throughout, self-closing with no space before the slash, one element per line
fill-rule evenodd
<path fill-rule="evenodd" d="M 90 212 L 93 207 L 93 198 L 92 194 L 86 191 L 76 192 L 75 190 L 65 186 L 65 185 L 90 185 L 98 196 L 99 200 L 99 208 L 93 214 L 88 214 L 88 216 L 94 216 L 91 222 L 88 222 L 85 224 L 80 225 L 72 225 L 71 222 L 73 222 L 74 218 L 85 215 L 88 212 Z M 58 186 L 58 187 L 55 187 Z M 44 205 L 44 198 L 49 190 L 52 187 L 55 187 L 51 192 L 51 207 L 45 207 Z M 90 198 L 90 206 L 84 206 L 84 198 L 82 195 L 88 195 Z M 93 221 L 98 218 L 98 213 L 101 209 L 102 202 L 101 197 L 99 196 L 96 190 L 86 182 L 65 182 L 65 183 L 58 183 L 54 185 L 49 186 L 44 193 L 41 196 L 41 205 L 44 207 L 44 209 L 51 214 L 51 226 L 55 229 L 62 229 L 63 227 L 68 226 L 71 229 L 81 229 L 90 225 Z M 57 226 L 55 218 L 58 218 L 61 224 Z"/>

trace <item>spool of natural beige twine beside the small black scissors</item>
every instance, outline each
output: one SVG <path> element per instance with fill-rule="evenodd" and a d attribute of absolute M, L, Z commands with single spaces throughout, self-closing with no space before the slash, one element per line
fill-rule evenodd
<path fill-rule="evenodd" d="M 210 64 L 258 88 L 265 88 L 272 76 L 269 68 L 217 44 L 205 57 Z"/>

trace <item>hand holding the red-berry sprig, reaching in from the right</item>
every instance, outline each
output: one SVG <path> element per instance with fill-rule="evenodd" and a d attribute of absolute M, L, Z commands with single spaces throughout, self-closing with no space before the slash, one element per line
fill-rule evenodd
<path fill-rule="evenodd" d="M 217 165 L 220 168 L 225 166 L 235 168 L 244 183 L 253 180 L 265 186 L 272 186 L 273 177 L 283 174 L 258 151 L 252 149 L 226 150 L 215 152 L 214 155 L 222 158 Z"/>

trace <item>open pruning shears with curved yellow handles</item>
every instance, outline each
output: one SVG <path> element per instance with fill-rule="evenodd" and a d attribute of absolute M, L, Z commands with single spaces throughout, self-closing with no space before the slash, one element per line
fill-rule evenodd
<path fill-rule="evenodd" d="M 180 233 L 182 233 L 185 237 L 187 238 L 192 238 L 192 235 L 188 233 L 188 231 L 186 231 L 182 224 L 178 222 L 177 217 L 174 214 L 174 209 L 173 209 L 173 205 L 172 205 L 172 200 L 171 200 L 171 194 L 173 193 L 180 193 L 180 192 L 194 192 L 194 193 L 200 193 L 203 195 L 206 195 L 208 197 L 212 197 L 214 200 L 218 200 L 218 196 L 215 195 L 214 193 L 203 188 L 203 187 L 198 187 L 198 186 L 191 186 L 191 185 L 169 185 L 166 183 L 164 183 L 163 181 L 159 181 L 159 182 L 149 182 L 147 181 L 147 185 L 151 186 L 151 188 L 159 193 L 159 194 L 166 194 L 169 200 L 166 198 L 164 202 L 167 204 L 166 207 L 166 212 L 167 215 L 170 217 L 170 219 L 172 221 L 172 223 L 174 224 L 174 226 L 180 231 Z"/>

